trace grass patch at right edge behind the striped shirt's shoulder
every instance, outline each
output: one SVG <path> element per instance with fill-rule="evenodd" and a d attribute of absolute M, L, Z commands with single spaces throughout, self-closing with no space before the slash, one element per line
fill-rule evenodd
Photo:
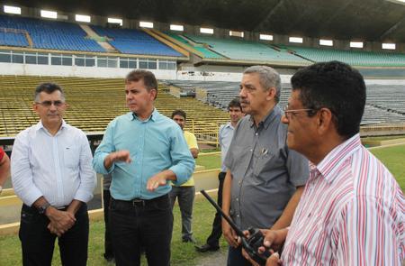
<path fill-rule="evenodd" d="M 370 150 L 391 171 L 402 191 L 405 191 L 405 145 Z"/>

